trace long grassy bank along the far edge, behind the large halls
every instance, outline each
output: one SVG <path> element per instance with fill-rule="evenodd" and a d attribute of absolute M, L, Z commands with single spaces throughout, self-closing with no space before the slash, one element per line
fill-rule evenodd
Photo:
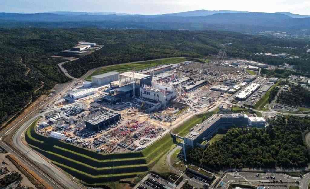
<path fill-rule="evenodd" d="M 86 78 L 86 80 L 91 81 L 91 76 L 103 74 L 103 73 L 111 72 L 111 71 L 117 71 L 120 73 L 131 71 L 132 69 L 134 69 L 135 71 L 139 71 L 139 70 L 144 70 L 146 68 L 150 68 L 150 67 L 157 66 L 157 65 L 176 64 L 176 63 L 180 63 L 184 61 L 186 61 L 186 58 L 167 58 L 167 59 L 162 59 L 162 60 L 146 61 L 146 62 L 140 62 L 140 63 L 125 63 L 125 64 L 111 65 L 111 66 L 106 66 L 104 68 L 94 71 L 90 76 Z"/>

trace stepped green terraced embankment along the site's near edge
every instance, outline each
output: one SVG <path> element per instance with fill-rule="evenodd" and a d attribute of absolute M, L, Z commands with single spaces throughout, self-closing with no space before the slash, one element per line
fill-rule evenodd
<path fill-rule="evenodd" d="M 210 113 L 206 114 L 208 117 Z M 188 124 L 203 115 L 196 115 L 174 130 L 176 134 L 188 132 Z M 102 154 L 38 134 L 34 127 L 38 120 L 27 129 L 26 142 L 34 150 L 51 160 L 67 173 L 89 184 L 134 178 L 148 172 L 156 162 L 170 150 L 173 141 L 166 134 L 151 146 L 140 152 Z"/>

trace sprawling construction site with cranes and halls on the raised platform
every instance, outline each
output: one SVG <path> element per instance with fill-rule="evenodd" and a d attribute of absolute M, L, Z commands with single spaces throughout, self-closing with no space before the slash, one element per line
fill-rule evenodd
<path fill-rule="evenodd" d="M 140 151 L 188 115 L 222 107 L 238 100 L 242 88 L 268 80 L 228 64 L 225 57 L 222 49 L 208 63 L 191 60 L 92 76 L 92 82 L 80 81 L 57 99 L 37 130 L 104 153 Z"/>

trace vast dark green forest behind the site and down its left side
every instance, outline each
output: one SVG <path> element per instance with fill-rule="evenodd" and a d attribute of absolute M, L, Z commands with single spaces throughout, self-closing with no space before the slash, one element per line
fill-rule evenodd
<path fill-rule="evenodd" d="M 250 54 L 272 46 L 305 46 L 297 39 L 272 39 L 224 31 L 108 30 L 108 29 L 0 29 L 0 123 L 22 110 L 29 102 L 48 92 L 56 83 L 68 82 L 57 63 L 49 58 L 75 46 L 78 41 L 103 48 L 64 65 L 69 74 L 80 77 L 105 65 L 165 57 L 205 57 L 217 54 L 223 43 L 227 55 L 250 58 Z M 281 49 L 274 51 L 282 52 Z M 37 90 L 39 89 L 39 90 Z"/>

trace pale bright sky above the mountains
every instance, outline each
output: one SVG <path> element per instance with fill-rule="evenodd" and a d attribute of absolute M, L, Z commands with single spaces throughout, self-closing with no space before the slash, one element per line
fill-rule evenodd
<path fill-rule="evenodd" d="M 310 15 L 310 0 L 0 0 L 0 12 L 87 11 L 164 14 L 201 9 L 284 11 Z"/>

